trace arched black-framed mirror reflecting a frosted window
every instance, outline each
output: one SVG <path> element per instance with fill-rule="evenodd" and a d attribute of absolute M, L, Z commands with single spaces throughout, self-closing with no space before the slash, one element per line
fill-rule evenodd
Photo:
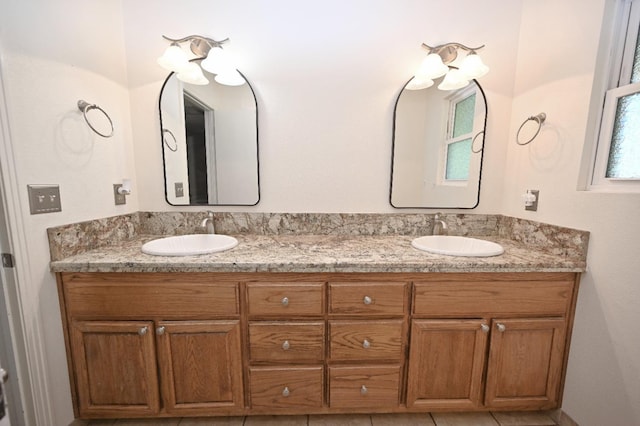
<path fill-rule="evenodd" d="M 478 82 L 453 91 L 410 90 L 405 84 L 393 117 L 391 205 L 475 208 L 487 122 Z"/>

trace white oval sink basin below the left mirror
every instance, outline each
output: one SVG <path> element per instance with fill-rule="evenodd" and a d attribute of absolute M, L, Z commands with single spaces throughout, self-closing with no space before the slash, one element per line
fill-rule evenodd
<path fill-rule="evenodd" d="M 234 248 L 238 240 L 228 235 L 192 234 L 159 238 L 142 246 L 142 252 L 156 256 L 190 256 Z"/>

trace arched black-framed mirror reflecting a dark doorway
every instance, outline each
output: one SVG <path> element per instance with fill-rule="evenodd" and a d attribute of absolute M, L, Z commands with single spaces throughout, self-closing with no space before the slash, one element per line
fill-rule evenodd
<path fill-rule="evenodd" d="M 260 200 L 255 94 L 246 78 L 240 86 L 224 86 L 204 74 L 209 84 L 200 86 L 171 73 L 160 92 L 166 200 L 177 206 L 255 205 Z"/>

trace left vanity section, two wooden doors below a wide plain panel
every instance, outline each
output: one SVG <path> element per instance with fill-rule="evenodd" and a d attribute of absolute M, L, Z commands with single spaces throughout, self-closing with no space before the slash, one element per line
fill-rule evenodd
<path fill-rule="evenodd" d="M 238 284 L 206 274 L 61 274 L 76 415 L 243 409 Z"/>

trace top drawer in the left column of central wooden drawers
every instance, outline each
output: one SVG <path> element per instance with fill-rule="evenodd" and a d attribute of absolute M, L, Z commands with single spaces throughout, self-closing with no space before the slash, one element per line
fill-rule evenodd
<path fill-rule="evenodd" d="M 248 283 L 249 315 L 321 315 L 324 283 Z"/>

